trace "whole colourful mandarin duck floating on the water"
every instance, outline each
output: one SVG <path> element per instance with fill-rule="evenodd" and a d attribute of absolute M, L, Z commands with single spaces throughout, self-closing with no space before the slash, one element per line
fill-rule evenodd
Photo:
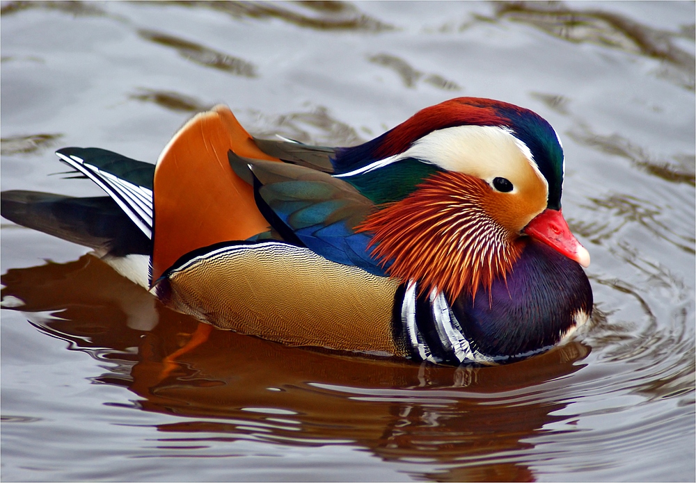
<path fill-rule="evenodd" d="M 489 365 L 561 343 L 592 312 L 560 139 L 512 104 L 451 99 L 338 148 L 253 138 L 216 106 L 156 165 L 56 154 L 109 196 L 8 191 L 3 217 L 93 247 L 221 329 Z"/>

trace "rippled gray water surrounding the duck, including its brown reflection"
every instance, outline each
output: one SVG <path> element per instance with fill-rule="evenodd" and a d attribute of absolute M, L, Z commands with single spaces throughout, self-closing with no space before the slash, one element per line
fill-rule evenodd
<path fill-rule="evenodd" d="M 1 187 L 62 146 L 154 162 L 198 110 L 349 145 L 461 95 L 560 133 L 592 326 L 503 368 L 282 347 L 196 322 L 3 220 L 10 480 L 694 480 L 695 4 L 2 3 Z M 159 320 L 152 324 L 152 314 Z"/>

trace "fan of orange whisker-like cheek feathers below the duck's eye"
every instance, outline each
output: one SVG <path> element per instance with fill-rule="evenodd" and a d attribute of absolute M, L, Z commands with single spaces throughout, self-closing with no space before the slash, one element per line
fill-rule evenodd
<path fill-rule="evenodd" d="M 442 172 L 401 202 L 372 213 L 357 231 L 371 232 L 372 255 L 392 277 L 418 280 L 421 290 L 475 296 L 505 277 L 519 248 L 487 212 L 491 188 L 480 179 Z"/>

